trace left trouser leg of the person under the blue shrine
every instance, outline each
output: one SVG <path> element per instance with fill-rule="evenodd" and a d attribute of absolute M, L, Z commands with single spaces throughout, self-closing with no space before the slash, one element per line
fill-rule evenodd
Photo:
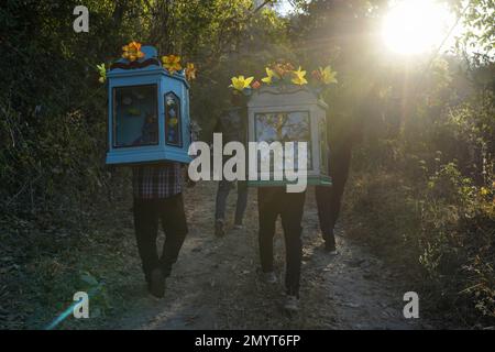
<path fill-rule="evenodd" d="M 154 200 L 134 199 L 134 229 L 138 251 L 144 276 L 150 283 L 151 273 L 158 264 L 156 237 L 158 233 L 158 212 Z"/>

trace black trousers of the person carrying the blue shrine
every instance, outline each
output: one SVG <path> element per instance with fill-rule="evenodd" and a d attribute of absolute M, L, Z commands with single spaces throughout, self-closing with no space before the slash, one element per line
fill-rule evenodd
<path fill-rule="evenodd" d="M 156 249 L 158 222 L 165 232 L 161 256 Z M 187 234 L 183 195 L 165 199 L 134 199 L 134 228 L 146 280 L 150 282 L 152 271 L 157 267 L 168 277 Z"/>

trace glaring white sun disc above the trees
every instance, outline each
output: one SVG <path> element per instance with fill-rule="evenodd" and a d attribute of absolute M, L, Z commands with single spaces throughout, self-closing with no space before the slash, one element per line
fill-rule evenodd
<path fill-rule="evenodd" d="M 454 20 L 449 9 L 435 0 L 395 1 L 383 24 L 386 46 L 398 54 L 420 54 L 438 47 Z"/>

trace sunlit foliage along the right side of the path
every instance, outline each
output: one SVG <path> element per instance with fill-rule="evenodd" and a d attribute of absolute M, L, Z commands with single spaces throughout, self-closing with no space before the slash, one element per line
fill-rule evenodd
<path fill-rule="evenodd" d="M 329 101 L 333 145 L 354 150 L 345 228 L 437 318 L 483 326 L 495 317 L 494 4 L 451 2 L 471 30 L 407 61 L 376 41 L 385 2 L 356 3 L 302 1 L 299 38 L 324 43 L 346 86 Z"/>

